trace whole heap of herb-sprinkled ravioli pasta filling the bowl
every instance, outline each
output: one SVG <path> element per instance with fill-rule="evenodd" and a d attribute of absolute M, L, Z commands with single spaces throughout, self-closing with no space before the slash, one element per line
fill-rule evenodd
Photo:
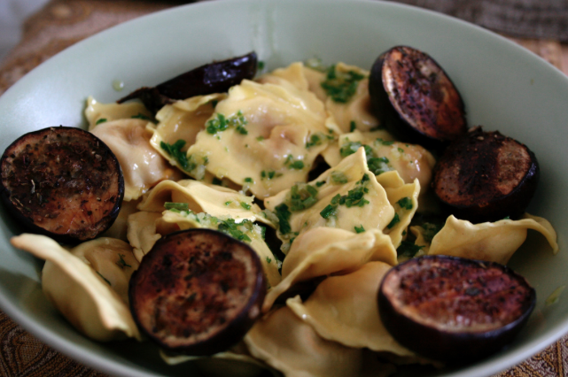
<path fill-rule="evenodd" d="M 424 214 L 419 210 L 435 207 L 428 193 L 435 158 L 381 127 L 368 88 L 362 68 L 310 61 L 244 80 L 228 93 L 166 104 L 155 118 L 143 104 L 90 98 L 89 131 L 114 150 L 125 176 L 119 220 L 88 253 L 45 242 L 52 250 L 46 254 L 29 235 L 12 242 L 58 266 L 69 284 L 87 290 L 92 282 L 90 305 L 105 306 L 111 297 L 115 322 L 97 317 L 109 311 L 62 310 L 80 331 L 89 315 L 97 317 L 107 340 L 139 337 L 128 295 L 114 289 L 136 269 L 128 258 L 144 261 L 178 230 L 221 231 L 256 252 L 268 292 L 264 316 L 217 357 L 239 355 L 288 375 L 354 375 L 385 353 L 427 363 L 380 321 L 376 297 L 385 273 L 423 254 L 506 263 L 527 229 L 547 236 L 554 250 L 556 234 L 530 215 L 479 224 L 449 216 L 441 228 L 413 222 Z M 94 267 L 87 283 L 66 268 L 77 260 Z M 54 280 L 44 273 L 44 290 L 64 308 Z M 310 291 L 306 281 L 318 284 Z M 292 291 L 298 295 L 283 304 Z M 368 351 L 372 358 L 364 357 Z M 170 362 L 185 359 L 162 353 Z"/>

